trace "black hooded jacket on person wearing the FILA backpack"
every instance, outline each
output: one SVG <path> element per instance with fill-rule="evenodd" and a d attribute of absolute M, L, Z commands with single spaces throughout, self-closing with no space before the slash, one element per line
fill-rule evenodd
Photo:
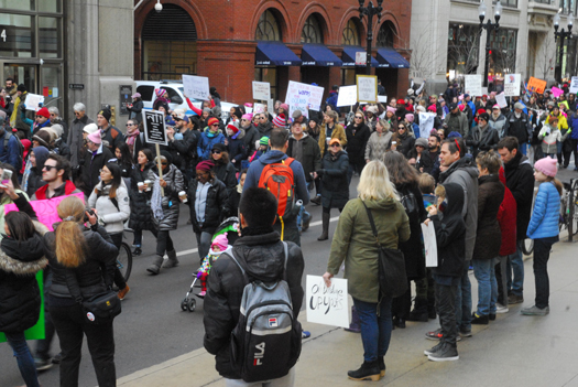
<path fill-rule="evenodd" d="M 297 245 L 287 241 L 287 247 L 285 280 L 291 292 L 293 312 L 297 319 L 303 301 L 301 282 L 305 264 Z M 232 249 L 235 257 L 250 278 L 272 282 L 283 276 L 285 254 L 277 233 L 243 236 L 237 239 Z M 230 363 L 229 344 L 231 332 L 239 322 L 239 308 L 246 284 L 241 270 L 230 258 L 221 255 L 212 264 L 204 304 L 204 344 L 208 353 L 216 355 L 217 372 L 230 379 L 240 378 Z"/>

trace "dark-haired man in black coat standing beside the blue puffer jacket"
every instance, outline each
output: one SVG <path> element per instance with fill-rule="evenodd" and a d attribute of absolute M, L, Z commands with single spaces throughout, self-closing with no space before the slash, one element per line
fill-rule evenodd
<path fill-rule="evenodd" d="M 524 302 L 524 260 L 522 257 L 522 244 L 526 238 L 527 225 L 532 214 L 532 198 L 534 196 L 534 169 L 530 160 L 522 154 L 515 137 L 504 137 L 498 143 L 498 153 L 502 158 L 505 171 L 505 185 L 514 195 L 517 211 L 516 222 L 516 251 L 509 256 L 508 272 L 513 271 L 513 279 L 509 277 L 508 303 Z"/>

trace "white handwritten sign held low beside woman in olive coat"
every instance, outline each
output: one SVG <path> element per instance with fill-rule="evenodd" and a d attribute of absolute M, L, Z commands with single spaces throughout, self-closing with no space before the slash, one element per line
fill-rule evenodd
<path fill-rule="evenodd" d="M 331 278 L 331 287 L 327 288 L 320 276 L 307 276 L 305 303 L 307 304 L 307 321 L 349 327 L 349 305 L 347 280 Z"/>

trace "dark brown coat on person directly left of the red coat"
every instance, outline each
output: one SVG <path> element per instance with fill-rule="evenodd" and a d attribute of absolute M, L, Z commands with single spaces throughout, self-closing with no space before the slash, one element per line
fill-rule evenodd
<path fill-rule="evenodd" d="M 500 255 L 502 232 L 498 213 L 504 190 L 497 174 L 478 179 L 478 233 L 472 259 L 493 259 Z"/>

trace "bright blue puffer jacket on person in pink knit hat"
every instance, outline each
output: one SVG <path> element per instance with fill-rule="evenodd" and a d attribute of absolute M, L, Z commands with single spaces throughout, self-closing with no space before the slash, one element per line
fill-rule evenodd
<path fill-rule="evenodd" d="M 548 238 L 558 235 L 560 195 L 553 182 L 539 184 L 534 204 L 534 213 L 527 226 L 531 239 Z"/>

